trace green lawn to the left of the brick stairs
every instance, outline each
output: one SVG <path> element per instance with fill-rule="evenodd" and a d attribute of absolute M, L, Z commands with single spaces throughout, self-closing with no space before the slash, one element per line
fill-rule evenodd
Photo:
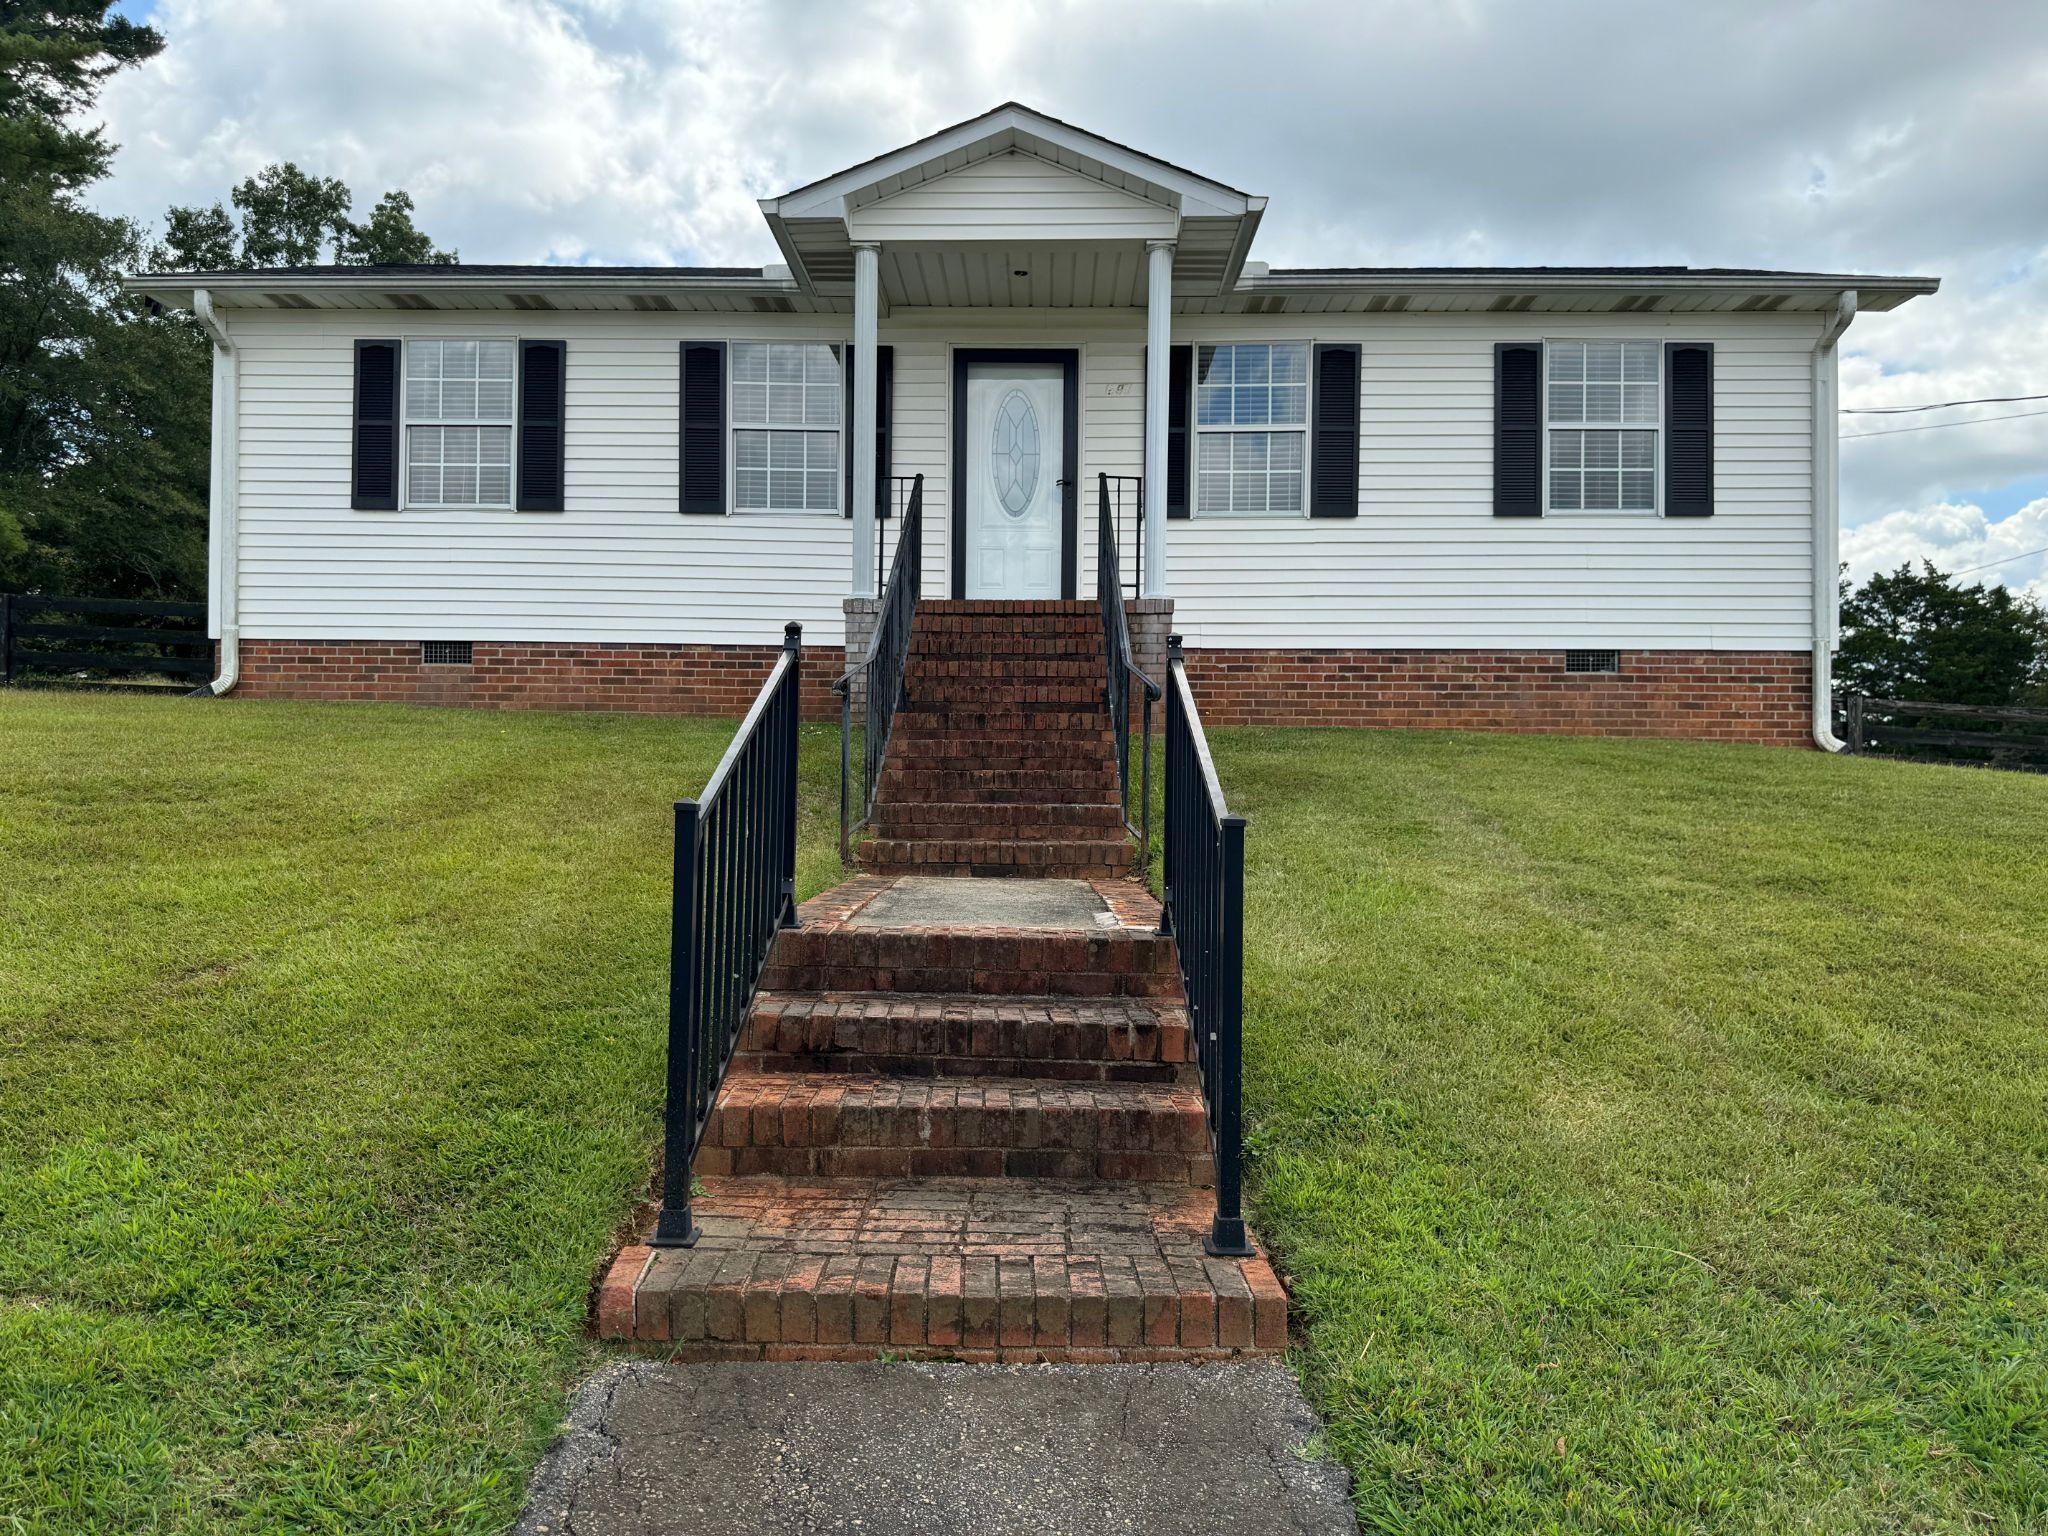
<path fill-rule="evenodd" d="M 0 694 L 0 1532 L 510 1522 L 647 1184 L 668 807 L 729 735 Z"/>

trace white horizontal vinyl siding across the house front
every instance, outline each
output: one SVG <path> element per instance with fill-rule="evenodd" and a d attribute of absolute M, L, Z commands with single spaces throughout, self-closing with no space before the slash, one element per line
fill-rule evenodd
<path fill-rule="evenodd" d="M 676 346 L 735 332 L 844 344 L 844 315 L 549 313 L 571 362 L 559 518 L 348 508 L 354 338 L 502 336 L 502 317 L 420 313 L 393 332 L 389 311 L 238 309 L 231 324 L 244 637 L 774 645 L 795 618 L 807 647 L 840 643 L 848 518 L 676 516 Z M 1561 328 L 1262 315 L 1264 340 L 1362 344 L 1358 516 L 1169 522 L 1176 629 L 1206 649 L 1806 651 L 1819 319 L 1602 315 L 1602 336 L 1714 344 L 1716 516 L 1495 518 L 1493 344 Z M 1245 334 L 1241 315 L 1174 317 L 1178 344 Z M 926 475 L 930 596 L 950 592 L 952 348 L 1079 350 L 1079 592 L 1094 592 L 1096 475 L 1143 473 L 1143 313 L 897 313 L 881 340 L 895 348 L 893 473 Z"/>

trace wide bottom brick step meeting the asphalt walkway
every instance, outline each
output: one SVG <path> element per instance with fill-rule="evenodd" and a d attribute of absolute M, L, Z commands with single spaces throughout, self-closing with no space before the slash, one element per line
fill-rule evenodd
<path fill-rule="evenodd" d="M 598 1337 L 686 1358 L 1214 1360 L 1286 1348 L 1210 1198 L 1049 1180 L 707 1178 L 696 1247 L 629 1245 Z"/>

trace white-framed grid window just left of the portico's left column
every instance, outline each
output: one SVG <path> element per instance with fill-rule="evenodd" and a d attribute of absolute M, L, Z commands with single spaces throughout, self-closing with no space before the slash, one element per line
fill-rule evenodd
<path fill-rule="evenodd" d="M 825 342 L 733 342 L 733 510 L 840 510 L 840 354 Z"/>

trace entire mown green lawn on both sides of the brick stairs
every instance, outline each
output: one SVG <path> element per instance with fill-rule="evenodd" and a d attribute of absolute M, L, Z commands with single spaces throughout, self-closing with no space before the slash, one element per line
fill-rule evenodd
<path fill-rule="evenodd" d="M 729 729 L 0 694 L 0 1536 L 510 1520 Z M 2048 1524 L 2048 780 L 1217 748 L 1255 1217 L 1368 1528 Z"/>

